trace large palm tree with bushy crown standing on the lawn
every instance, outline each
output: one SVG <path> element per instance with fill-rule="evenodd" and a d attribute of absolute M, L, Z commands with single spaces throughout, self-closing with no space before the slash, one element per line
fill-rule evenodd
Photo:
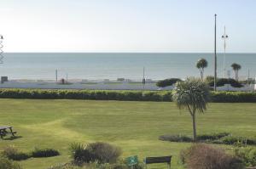
<path fill-rule="evenodd" d="M 177 82 L 172 95 L 177 107 L 182 110 L 189 110 L 193 123 L 193 139 L 196 141 L 195 114 L 204 113 L 207 110 L 207 102 L 210 98 L 207 83 L 194 77 L 187 78 L 184 82 Z"/>

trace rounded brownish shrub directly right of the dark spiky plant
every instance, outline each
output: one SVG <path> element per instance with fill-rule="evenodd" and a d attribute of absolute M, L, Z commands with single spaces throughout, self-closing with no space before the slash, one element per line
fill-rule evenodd
<path fill-rule="evenodd" d="M 89 149 L 95 160 L 100 163 L 114 163 L 122 154 L 118 147 L 102 142 L 88 144 L 86 149 Z"/>

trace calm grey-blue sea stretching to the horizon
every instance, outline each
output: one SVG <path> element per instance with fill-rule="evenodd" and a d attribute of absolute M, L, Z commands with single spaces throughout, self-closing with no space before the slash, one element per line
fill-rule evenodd
<path fill-rule="evenodd" d="M 0 76 L 9 79 L 142 79 L 143 66 L 146 78 L 158 80 L 168 77 L 199 76 L 195 68 L 198 59 L 205 58 L 206 75 L 213 72 L 213 54 L 4 54 Z M 239 76 L 256 75 L 256 54 L 227 54 L 226 67 L 236 62 L 241 65 Z M 218 76 L 223 76 L 224 55 L 218 54 Z M 230 76 L 234 76 L 231 71 Z"/>

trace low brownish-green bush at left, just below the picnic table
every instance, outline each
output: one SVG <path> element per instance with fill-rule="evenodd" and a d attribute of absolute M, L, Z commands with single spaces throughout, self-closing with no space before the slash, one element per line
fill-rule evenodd
<path fill-rule="evenodd" d="M 8 157 L 9 160 L 23 161 L 30 158 L 26 153 L 19 152 L 14 146 L 7 146 L 3 148 L 3 155 Z"/>

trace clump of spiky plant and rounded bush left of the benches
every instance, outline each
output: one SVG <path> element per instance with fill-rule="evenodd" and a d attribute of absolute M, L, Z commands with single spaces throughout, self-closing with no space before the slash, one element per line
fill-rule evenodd
<path fill-rule="evenodd" d="M 71 144 L 72 157 L 76 164 L 98 161 L 115 163 L 121 155 L 121 149 L 111 144 L 96 142 L 92 144 Z"/>

